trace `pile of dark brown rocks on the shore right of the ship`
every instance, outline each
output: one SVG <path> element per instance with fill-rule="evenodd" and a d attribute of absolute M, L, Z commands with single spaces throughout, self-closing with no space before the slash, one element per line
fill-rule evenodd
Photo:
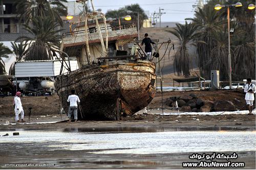
<path fill-rule="evenodd" d="M 195 94 L 174 96 L 165 100 L 165 105 L 175 107 L 175 101 L 181 111 L 184 112 L 211 112 L 211 111 L 234 111 L 234 104 L 226 100 L 208 101 L 197 98 Z"/>

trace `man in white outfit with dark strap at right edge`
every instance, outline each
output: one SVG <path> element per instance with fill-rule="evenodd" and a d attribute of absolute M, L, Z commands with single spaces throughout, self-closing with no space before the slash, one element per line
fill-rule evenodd
<path fill-rule="evenodd" d="M 251 83 L 251 79 L 248 78 L 245 88 L 244 88 L 244 92 L 246 92 L 245 94 L 245 101 L 249 110 L 248 114 L 252 114 L 252 105 L 253 105 L 253 101 L 254 101 L 254 93 L 256 92 L 256 88 L 255 85 Z"/>

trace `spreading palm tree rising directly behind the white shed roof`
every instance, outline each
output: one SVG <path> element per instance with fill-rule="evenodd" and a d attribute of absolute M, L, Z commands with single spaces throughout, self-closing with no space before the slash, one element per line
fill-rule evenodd
<path fill-rule="evenodd" d="M 26 41 L 29 46 L 25 60 L 51 60 L 51 51 L 57 50 L 60 45 L 61 35 L 57 33 L 58 23 L 51 17 L 42 19 L 41 17 L 32 17 L 32 25 L 24 25 L 24 29 L 31 33 L 33 37 L 22 36 L 16 39 Z"/>

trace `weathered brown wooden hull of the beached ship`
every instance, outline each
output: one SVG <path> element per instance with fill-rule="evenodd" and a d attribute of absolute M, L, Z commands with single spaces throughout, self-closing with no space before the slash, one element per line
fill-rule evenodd
<path fill-rule="evenodd" d="M 56 89 L 63 109 L 68 112 L 68 95 L 75 89 L 81 110 L 78 119 L 119 120 L 146 107 L 155 96 L 155 64 L 149 61 L 118 61 L 60 75 Z"/>

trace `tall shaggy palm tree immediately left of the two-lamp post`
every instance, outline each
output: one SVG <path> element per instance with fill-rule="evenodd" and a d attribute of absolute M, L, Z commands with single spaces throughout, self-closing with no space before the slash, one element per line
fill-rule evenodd
<path fill-rule="evenodd" d="M 210 5 L 204 6 L 203 9 L 199 8 L 199 11 L 195 12 L 195 18 L 186 18 L 186 20 L 193 21 L 199 27 L 200 34 L 196 37 L 199 42 L 197 44 L 198 66 L 201 75 L 209 78 L 210 68 L 206 63 L 210 61 L 211 50 L 216 47 L 216 41 L 212 38 L 212 34 L 222 28 L 224 21 L 220 20 L 221 13 L 215 11 Z"/>

